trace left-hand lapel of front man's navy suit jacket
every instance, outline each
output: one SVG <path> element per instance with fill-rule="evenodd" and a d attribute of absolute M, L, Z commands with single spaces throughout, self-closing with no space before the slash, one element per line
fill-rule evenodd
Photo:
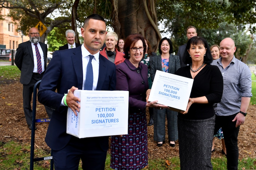
<path fill-rule="evenodd" d="M 82 51 L 81 48 L 75 48 L 75 51 L 70 54 L 75 74 L 78 81 L 78 89 L 83 89 L 83 63 L 82 63 Z"/>

